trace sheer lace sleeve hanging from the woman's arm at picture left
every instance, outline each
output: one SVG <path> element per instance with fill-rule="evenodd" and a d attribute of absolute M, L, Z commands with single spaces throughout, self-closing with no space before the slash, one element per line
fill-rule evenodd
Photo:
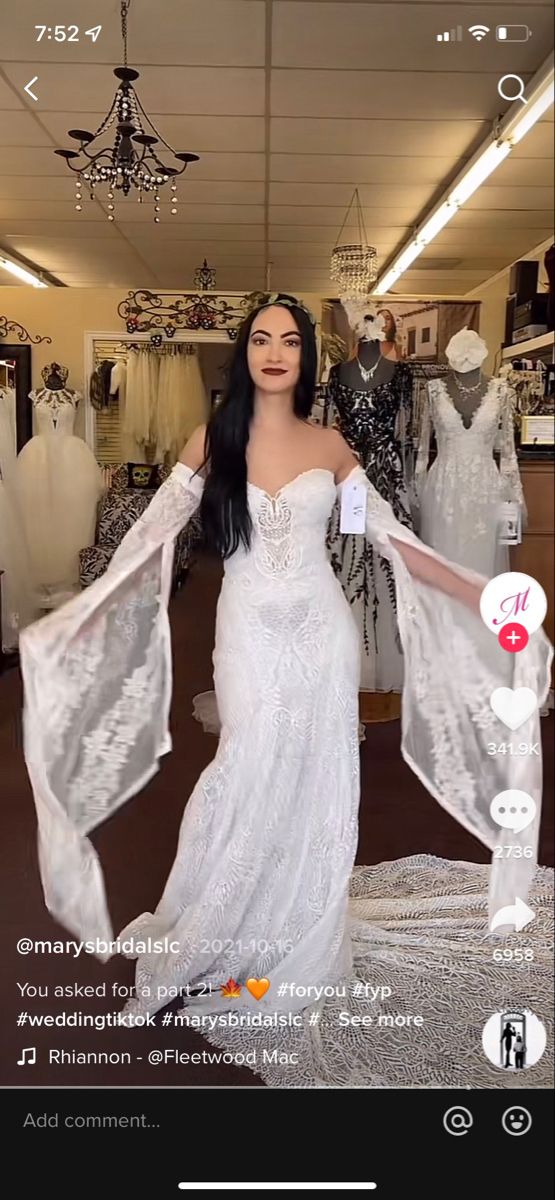
<path fill-rule="evenodd" d="M 173 540 L 202 488 L 178 463 L 105 575 L 20 638 L 46 904 L 73 936 L 94 941 L 101 959 L 113 953 L 112 923 L 86 834 L 144 787 L 172 748 Z"/>

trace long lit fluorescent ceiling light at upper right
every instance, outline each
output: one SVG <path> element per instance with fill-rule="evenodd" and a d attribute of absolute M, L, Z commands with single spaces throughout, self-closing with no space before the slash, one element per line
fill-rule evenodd
<path fill-rule="evenodd" d="M 482 146 L 481 150 L 471 158 L 470 163 L 461 170 L 459 178 L 452 185 L 452 187 L 444 193 L 438 205 L 434 209 L 429 217 L 419 227 L 412 241 L 407 242 L 402 247 L 398 257 L 392 263 L 390 268 L 386 274 L 377 281 L 374 288 L 374 295 L 384 295 L 401 275 L 411 266 L 416 258 L 422 254 L 422 251 L 430 245 L 430 241 L 437 236 L 437 234 L 448 224 L 449 221 L 456 215 L 462 204 L 482 186 L 485 179 L 496 168 L 511 150 L 517 145 L 526 133 L 532 128 L 537 120 L 547 113 L 548 108 L 554 102 L 554 79 L 555 72 L 553 68 L 553 55 L 547 64 L 538 72 L 536 78 L 530 85 L 529 96 L 526 102 L 518 102 L 518 108 L 512 110 L 511 114 L 501 122 L 499 128 L 495 131 L 495 142 L 490 142 L 485 148 Z"/>

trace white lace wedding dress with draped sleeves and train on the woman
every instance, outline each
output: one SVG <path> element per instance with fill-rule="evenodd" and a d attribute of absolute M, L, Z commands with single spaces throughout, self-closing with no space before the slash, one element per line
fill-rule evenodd
<path fill-rule="evenodd" d="M 350 478 L 368 492 L 366 535 L 395 570 L 407 660 L 402 752 L 494 847 L 502 834 L 489 804 L 513 767 L 487 756 L 485 742 L 508 737 L 489 697 L 501 683 L 543 695 L 549 644 L 539 631 L 508 655 L 470 610 L 418 583 L 390 538 L 437 556 L 395 521 L 359 467 Z M 82 938 L 112 938 L 86 834 L 171 749 L 172 544 L 202 487 L 179 463 L 106 575 L 22 638 L 46 900 Z M 508 1002 L 548 1020 L 550 874 L 533 858 L 495 859 L 490 870 L 426 856 L 352 872 L 359 641 L 326 553 L 334 478 L 306 470 L 274 497 L 253 485 L 247 496 L 252 546 L 226 562 L 217 606 L 220 742 L 187 800 L 160 904 L 119 935 L 138 959 L 126 1020 L 156 1013 L 189 985 L 203 994 L 186 1001 L 187 1021 L 235 1061 L 246 1054 L 274 1086 L 503 1086 L 481 1051 L 481 1030 Z M 518 737 L 537 731 L 536 715 Z M 520 760 L 519 772 L 538 815 L 511 840 L 535 850 L 541 770 Z M 515 888 L 531 896 L 536 920 L 502 944 L 531 948 L 525 968 L 496 964 L 500 942 L 488 935 L 488 904 L 491 912 L 514 902 Z M 113 949 L 96 946 L 105 959 Z M 250 977 L 269 980 L 259 1001 L 245 989 Z M 220 985 L 229 978 L 241 990 L 226 1000 Z M 310 991 L 318 988 L 333 995 Z M 390 991 L 369 990 L 380 988 Z M 392 1026 L 395 1014 L 423 1024 Z M 548 1074 L 536 1068 L 535 1085 L 548 1086 Z M 511 1086 L 521 1082 L 511 1073 Z"/>

